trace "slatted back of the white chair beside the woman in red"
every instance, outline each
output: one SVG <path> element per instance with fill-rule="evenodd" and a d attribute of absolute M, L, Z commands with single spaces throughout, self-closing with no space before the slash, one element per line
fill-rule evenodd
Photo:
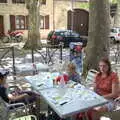
<path fill-rule="evenodd" d="M 94 70 L 94 69 L 90 69 L 88 71 L 87 77 L 86 77 L 86 82 L 87 83 L 93 83 L 95 76 L 97 74 L 98 71 Z"/>

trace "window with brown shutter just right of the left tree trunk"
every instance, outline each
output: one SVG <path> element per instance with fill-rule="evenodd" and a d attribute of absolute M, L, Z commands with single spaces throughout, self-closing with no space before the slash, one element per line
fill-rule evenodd
<path fill-rule="evenodd" d="M 40 16 L 40 29 L 49 29 L 49 15 Z"/>

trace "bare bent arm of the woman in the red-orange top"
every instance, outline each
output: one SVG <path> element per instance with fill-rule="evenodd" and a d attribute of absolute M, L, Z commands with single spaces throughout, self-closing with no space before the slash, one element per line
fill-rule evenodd
<path fill-rule="evenodd" d="M 119 84 L 112 83 L 112 92 L 108 95 L 104 95 L 103 97 L 106 99 L 113 99 L 118 95 L 118 90 L 119 90 Z"/>

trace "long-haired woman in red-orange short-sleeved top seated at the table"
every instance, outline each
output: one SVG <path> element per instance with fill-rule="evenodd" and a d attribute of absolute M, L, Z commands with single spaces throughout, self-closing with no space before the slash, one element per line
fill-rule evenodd
<path fill-rule="evenodd" d="M 114 109 L 114 99 L 118 97 L 119 92 L 119 78 L 115 72 L 112 72 L 110 61 L 107 58 L 103 58 L 99 62 L 99 72 L 95 78 L 94 91 L 109 100 L 108 104 L 93 108 L 90 111 L 90 119 L 98 120 L 99 115 L 97 113 Z"/>

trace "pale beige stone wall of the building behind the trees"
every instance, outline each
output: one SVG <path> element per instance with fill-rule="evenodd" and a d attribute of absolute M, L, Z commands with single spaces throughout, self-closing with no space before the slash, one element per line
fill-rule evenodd
<path fill-rule="evenodd" d="M 79 8 L 79 3 L 74 3 L 73 8 Z M 41 38 L 46 38 L 50 30 L 67 29 L 67 12 L 70 9 L 71 0 L 54 0 L 54 4 L 53 0 L 46 0 L 46 5 L 40 7 L 40 14 L 49 15 L 49 29 L 40 30 Z M 25 4 L 12 4 L 12 0 L 8 0 L 8 3 L 0 3 L 0 15 L 4 16 L 6 33 L 10 29 L 9 15 L 28 15 L 28 11 Z M 28 31 L 24 30 L 25 37 L 27 37 L 27 33 Z"/>

